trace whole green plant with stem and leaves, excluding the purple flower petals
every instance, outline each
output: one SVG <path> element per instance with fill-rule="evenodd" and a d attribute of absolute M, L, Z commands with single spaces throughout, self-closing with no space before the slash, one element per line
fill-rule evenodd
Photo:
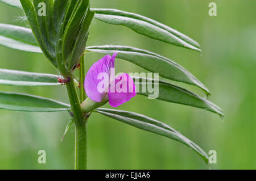
<path fill-rule="evenodd" d="M 113 9 L 90 9 L 89 0 L 0 1 L 23 9 L 31 28 L 0 24 L 0 44 L 26 52 L 43 53 L 60 73 L 60 75 L 51 75 L 0 69 L 0 84 L 11 86 L 58 86 L 65 84 L 70 101 L 69 105 L 40 96 L 0 92 L 0 108 L 32 112 L 69 111 L 72 115 L 72 121 L 67 125 L 64 134 L 69 131 L 72 125 L 75 125 L 75 169 L 86 169 L 87 122 L 92 112 L 101 113 L 139 129 L 179 141 L 195 150 L 205 162 L 208 162 L 208 155 L 205 151 L 175 129 L 138 113 L 100 108 L 106 102 L 99 104 L 89 98 L 85 100 L 84 91 L 84 54 L 89 52 L 101 54 L 118 52 L 117 58 L 130 61 L 151 72 L 159 73 L 161 77 L 200 87 L 205 94 L 210 95 L 207 87 L 188 70 L 159 54 L 120 45 L 86 47 L 89 26 L 93 19 L 126 26 L 152 39 L 200 52 L 200 45 L 196 41 L 141 15 Z M 38 14 L 42 8 L 38 5 L 42 2 L 46 5 L 46 16 Z M 79 79 L 73 74 L 78 65 L 80 65 Z M 144 79 L 147 80 L 148 84 L 155 83 L 155 80 L 150 78 L 134 77 L 134 81 L 138 81 L 138 86 L 143 84 Z M 159 81 L 158 86 L 158 99 L 160 100 L 203 108 L 224 116 L 218 106 L 189 90 L 165 81 Z M 77 94 L 77 90 L 79 94 Z M 137 93 L 145 96 L 150 94 L 150 92 Z"/>

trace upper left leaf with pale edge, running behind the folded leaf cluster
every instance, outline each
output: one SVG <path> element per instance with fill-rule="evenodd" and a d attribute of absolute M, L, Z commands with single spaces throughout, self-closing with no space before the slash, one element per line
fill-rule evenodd
<path fill-rule="evenodd" d="M 11 24 L 0 23 L 0 45 L 26 52 L 42 53 L 30 29 Z"/>

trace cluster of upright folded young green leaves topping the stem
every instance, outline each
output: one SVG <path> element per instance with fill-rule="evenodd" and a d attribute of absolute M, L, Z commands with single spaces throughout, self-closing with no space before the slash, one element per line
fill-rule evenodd
<path fill-rule="evenodd" d="M 84 53 L 94 16 L 89 0 L 20 0 L 20 3 L 48 60 L 63 75 L 72 71 Z"/>

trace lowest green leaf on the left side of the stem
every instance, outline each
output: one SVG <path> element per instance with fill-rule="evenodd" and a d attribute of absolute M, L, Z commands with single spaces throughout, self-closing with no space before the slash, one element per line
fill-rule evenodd
<path fill-rule="evenodd" d="M 68 104 L 56 100 L 14 92 L 0 92 L 0 108 L 28 112 L 56 112 L 71 109 Z"/>

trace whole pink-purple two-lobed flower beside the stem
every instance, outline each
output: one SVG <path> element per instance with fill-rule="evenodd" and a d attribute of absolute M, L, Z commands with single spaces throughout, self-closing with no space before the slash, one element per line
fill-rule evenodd
<path fill-rule="evenodd" d="M 115 77 L 115 56 L 109 54 L 101 58 L 92 65 L 85 77 L 85 92 L 94 102 L 109 100 L 112 107 L 118 107 L 121 104 L 133 98 L 137 92 L 133 78 L 123 73 Z"/>

